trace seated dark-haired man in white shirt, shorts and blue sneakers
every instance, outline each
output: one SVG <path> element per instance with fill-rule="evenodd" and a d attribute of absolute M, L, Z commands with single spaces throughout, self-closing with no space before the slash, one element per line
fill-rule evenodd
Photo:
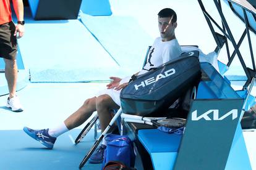
<path fill-rule="evenodd" d="M 159 38 L 156 38 L 153 46 L 148 52 L 147 63 L 141 71 L 135 75 L 142 75 L 146 73 L 150 68 L 155 68 L 169 60 L 176 59 L 181 55 L 181 47 L 175 36 L 175 29 L 177 27 L 177 15 L 173 9 L 162 9 L 158 13 L 158 28 L 160 31 Z M 28 127 L 24 127 L 25 131 L 30 137 L 41 142 L 48 148 L 53 148 L 53 145 L 58 136 L 80 126 L 84 123 L 93 113 L 97 111 L 101 131 L 103 132 L 111 121 L 111 114 L 109 110 L 118 109 L 120 103 L 121 89 L 126 87 L 130 76 L 124 79 L 111 77 L 113 81 L 107 85 L 107 89 L 100 91 L 98 95 L 91 99 L 85 100 L 83 105 L 67 118 L 64 123 L 57 127 L 50 129 L 33 130 Z M 96 150 L 94 155 L 91 156 L 90 163 L 101 163 L 103 161 L 103 153 L 106 148 L 106 140 L 103 139 L 103 143 L 100 148 Z"/>

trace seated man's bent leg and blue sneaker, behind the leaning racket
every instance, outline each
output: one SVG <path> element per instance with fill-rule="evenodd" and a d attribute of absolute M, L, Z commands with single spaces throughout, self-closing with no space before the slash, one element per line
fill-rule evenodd
<path fill-rule="evenodd" d="M 114 100 L 108 95 L 103 94 L 96 99 L 96 110 L 100 119 L 101 132 L 105 131 L 106 127 L 110 123 L 112 116 L 111 111 L 113 109 L 118 109 Z M 109 131 L 111 132 L 112 129 Z M 95 151 L 95 153 L 89 158 L 89 163 L 102 163 L 104 159 L 104 152 L 106 148 L 106 140 L 103 138 L 101 146 Z"/>

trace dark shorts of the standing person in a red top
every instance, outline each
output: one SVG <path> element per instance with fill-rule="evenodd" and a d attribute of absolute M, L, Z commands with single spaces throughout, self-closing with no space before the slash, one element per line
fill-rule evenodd
<path fill-rule="evenodd" d="M 17 38 L 14 36 L 14 31 L 13 22 L 0 25 L 0 57 L 4 59 L 16 59 Z"/>

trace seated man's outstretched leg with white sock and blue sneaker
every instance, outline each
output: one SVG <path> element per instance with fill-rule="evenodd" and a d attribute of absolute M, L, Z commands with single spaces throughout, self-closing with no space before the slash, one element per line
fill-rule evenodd
<path fill-rule="evenodd" d="M 53 148 L 53 145 L 58 136 L 80 126 L 96 111 L 96 97 L 85 100 L 82 107 L 70 115 L 63 123 L 51 129 L 33 130 L 24 127 L 25 131 L 30 137 L 41 142 L 48 148 Z"/>

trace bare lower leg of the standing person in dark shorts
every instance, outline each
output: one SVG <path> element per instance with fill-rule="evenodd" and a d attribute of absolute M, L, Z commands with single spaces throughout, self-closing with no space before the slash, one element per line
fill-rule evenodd
<path fill-rule="evenodd" d="M 9 99 L 15 96 L 16 86 L 17 86 L 17 77 L 18 77 L 18 68 L 16 59 L 8 60 L 4 59 L 6 63 L 6 80 L 9 88 Z"/>

